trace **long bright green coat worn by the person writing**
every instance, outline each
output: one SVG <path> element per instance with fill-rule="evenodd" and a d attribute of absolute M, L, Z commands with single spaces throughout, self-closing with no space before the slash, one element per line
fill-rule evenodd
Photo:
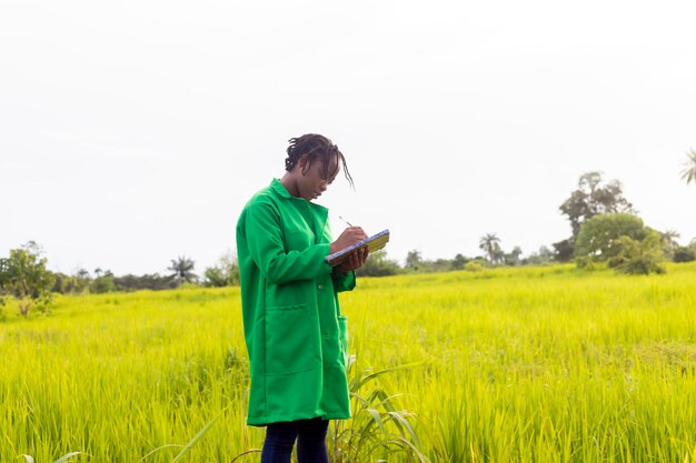
<path fill-rule="evenodd" d="M 247 423 L 348 419 L 347 331 L 337 293 L 355 288 L 330 253 L 328 210 L 276 179 L 237 222 L 251 389 Z"/>

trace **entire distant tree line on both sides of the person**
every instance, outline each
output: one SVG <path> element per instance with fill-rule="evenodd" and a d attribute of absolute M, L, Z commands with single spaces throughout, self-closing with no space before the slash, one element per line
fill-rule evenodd
<path fill-rule="evenodd" d="M 687 153 L 682 171 L 687 184 L 696 183 L 696 151 Z M 506 252 L 496 233 L 486 233 L 479 240 L 480 255 L 456 254 L 453 259 L 425 260 L 417 250 L 409 251 L 404 265 L 389 259 L 384 251 L 374 253 L 357 273 L 362 276 L 387 276 L 401 273 L 424 273 L 468 270 L 499 265 L 539 265 L 575 261 L 579 268 L 609 266 L 630 274 L 665 271 L 663 262 L 696 260 L 696 238 L 682 245 L 672 230 L 657 231 L 647 227 L 633 204 L 624 197 L 618 180 L 605 182 L 600 172 L 580 175 L 577 189 L 560 205 L 559 211 L 570 224 L 570 235 L 543 245 L 523 258 L 519 246 Z M 80 269 L 72 275 L 51 272 L 41 248 L 30 241 L 10 250 L 0 258 L 0 318 L 7 298 L 18 301 L 19 312 L 27 316 L 30 310 L 48 312 L 56 293 L 107 293 L 112 291 L 167 290 L 181 285 L 229 286 L 239 284 L 239 266 L 228 253 L 216 264 L 205 269 L 202 278 L 195 273 L 195 261 L 187 256 L 171 260 L 170 273 L 122 276 L 109 270 Z"/>

